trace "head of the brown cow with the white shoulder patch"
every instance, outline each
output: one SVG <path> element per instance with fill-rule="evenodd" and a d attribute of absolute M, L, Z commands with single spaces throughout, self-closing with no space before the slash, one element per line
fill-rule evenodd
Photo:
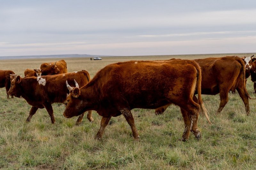
<path fill-rule="evenodd" d="M 16 74 L 15 75 L 10 74 L 10 78 L 12 78 L 11 76 L 14 78 L 11 81 L 11 88 L 8 91 L 8 94 L 11 96 L 20 98 L 20 96 L 21 96 L 21 94 L 20 94 L 20 92 L 21 92 L 21 89 L 20 89 L 21 77 L 17 76 Z"/>

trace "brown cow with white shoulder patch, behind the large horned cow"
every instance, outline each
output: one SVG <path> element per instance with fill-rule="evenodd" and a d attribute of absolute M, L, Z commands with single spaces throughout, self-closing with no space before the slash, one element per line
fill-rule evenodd
<path fill-rule="evenodd" d="M 66 81 L 75 87 L 74 79 L 81 86 L 91 80 L 89 73 L 85 70 L 41 77 L 21 78 L 20 76 L 15 76 L 11 82 L 11 88 L 8 94 L 18 98 L 23 97 L 32 106 L 27 122 L 30 122 L 30 119 L 38 108 L 45 107 L 51 117 L 51 122 L 55 123 L 52 103 L 66 104 L 66 98 L 69 92 L 66 87 Z M 77 124 L 81 123 L 83 116 L 84 113 L 79 116 L 76 121 Z M 93 121 L 92 111 L 88 112 L 87 118 L 90 122 Z"/>

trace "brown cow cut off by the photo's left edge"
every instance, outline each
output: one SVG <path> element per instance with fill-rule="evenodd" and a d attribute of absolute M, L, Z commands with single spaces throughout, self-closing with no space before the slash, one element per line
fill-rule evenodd
<path fill-rule="evenodd" d="M 12 70 L 0 70 L 0 88 L 5 87 L 8 99 L 9 99 L 8 91 L 11 87 L 10 74 L 15 74 L 15 73 Z"/>

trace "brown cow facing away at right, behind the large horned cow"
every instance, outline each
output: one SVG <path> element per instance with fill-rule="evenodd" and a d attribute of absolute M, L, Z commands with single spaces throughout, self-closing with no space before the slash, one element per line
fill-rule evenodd
<path fill-rule="evenodd" d="M 245 85 L 245 66 L 244 62 L 238 56 L 211 57 L 194 60 L 199 64 L 202 70 L 201 93 L 216 95 L 220 93 L 220 106 L 217 113 L 220 113 L 228 102 L 228 92 L 237 90 L 244 102 L 246 114 L 249 115 L 250 97 Z M 195 91 L 197 94 L 197 91 Z M 194 95 L 194 101 L 196 96 Z M 155 113 L 162 114 L 168 107 L 160 107 Z"/>

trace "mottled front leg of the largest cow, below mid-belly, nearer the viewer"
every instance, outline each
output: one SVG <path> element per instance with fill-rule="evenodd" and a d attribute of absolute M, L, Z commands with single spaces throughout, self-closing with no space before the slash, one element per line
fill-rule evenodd
<path fill-rule="evenodd" d="M 132 136 L 134 137 L 135 140 L 138 140 L 140 136 L 139 136 L 137 128 L 135 127 L 135 123 L 134 123 L 134 119 L 133 119 L 131 110 L 124 108 L 124 109 L 121 109 L 120 112 L 122 113 L 122 115 L 124 115 L 124 118 L 126 119 L 128 124 L 131 126 Z"/>

